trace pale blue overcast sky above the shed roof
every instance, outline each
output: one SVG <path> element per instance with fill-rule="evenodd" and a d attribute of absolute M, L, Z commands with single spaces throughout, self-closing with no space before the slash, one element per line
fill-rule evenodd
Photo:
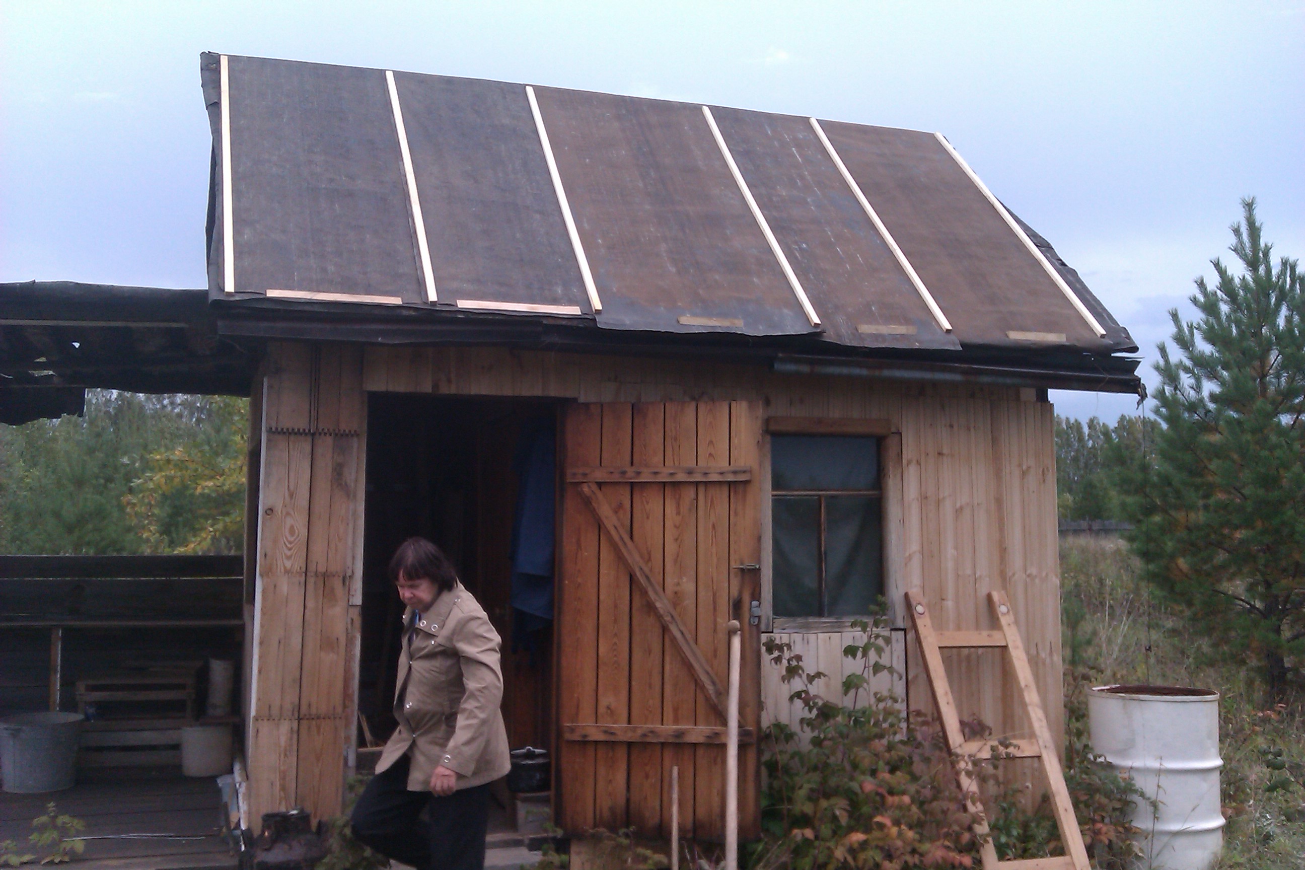
<path fill-rule="evenodd" d="M 0 0 L 0 280 L 204 286 L 201 51 L 941 130 L 1133 333 L 1148 381 L 1240 197 L 1305 256 L 1300 0 Z"/>

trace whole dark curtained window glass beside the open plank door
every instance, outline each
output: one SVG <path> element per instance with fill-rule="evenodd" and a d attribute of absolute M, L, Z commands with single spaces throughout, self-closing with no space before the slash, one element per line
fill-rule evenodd
<path fill-rule="evenodd" d="M 856 617 L 883 593 L 880 438 L 770 440 L 775 617 Z"/>

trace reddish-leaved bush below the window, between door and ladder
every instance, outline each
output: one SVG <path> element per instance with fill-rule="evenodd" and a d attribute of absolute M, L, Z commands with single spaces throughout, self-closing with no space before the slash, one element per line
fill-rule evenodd
<path fill-rule="evenodd" d="M 791 644 L 767 639 L 766 655 L 784 672 L 803 706 L 799 734 L 782 723 L 766 728 L 763 840 L 753 847 L 754 867 L 971 867 L 979 841 L 975 818 L 962 801 L 951 760 L 938 733 L 925 723 L 906 728 L 903 704 L 872 693 L 882 663 L 887 625 L 859 622 L 863 644 L 843 653 L 861 673 L 843 681 L 840 699 L 812 690 L 825 674 L 808 673 Z M 863 700 L 865 703 L 863 703 Z"/>

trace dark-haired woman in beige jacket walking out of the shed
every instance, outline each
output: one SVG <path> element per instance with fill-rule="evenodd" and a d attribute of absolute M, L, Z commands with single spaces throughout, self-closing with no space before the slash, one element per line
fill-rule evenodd
<path fill-rule="evenodd" d="M 499 633 L 453 565 L 410 537 L 390 560 L 403 612 L 394 730 L 354 807 L 354 836 L 425 870 L 482 870 L 489 783 L 506 776 Z M 429 822 L 418 815 L 429 806 Z"/>

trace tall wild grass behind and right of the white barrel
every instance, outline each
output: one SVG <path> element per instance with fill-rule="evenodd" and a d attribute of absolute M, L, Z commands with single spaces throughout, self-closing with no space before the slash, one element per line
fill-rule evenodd
<path fill-rule="evenodd" d="M 1101 683 L 1215 689 L 1223 767 L 1220 870 L 1305 867 L 1305 711 L 1267 706 L 1254 663 L 1155 600 L 1121 541 L 1061 543 L 1065 663 Z M 1279 754 L 1280 753 L 1280 754 Z"/>

